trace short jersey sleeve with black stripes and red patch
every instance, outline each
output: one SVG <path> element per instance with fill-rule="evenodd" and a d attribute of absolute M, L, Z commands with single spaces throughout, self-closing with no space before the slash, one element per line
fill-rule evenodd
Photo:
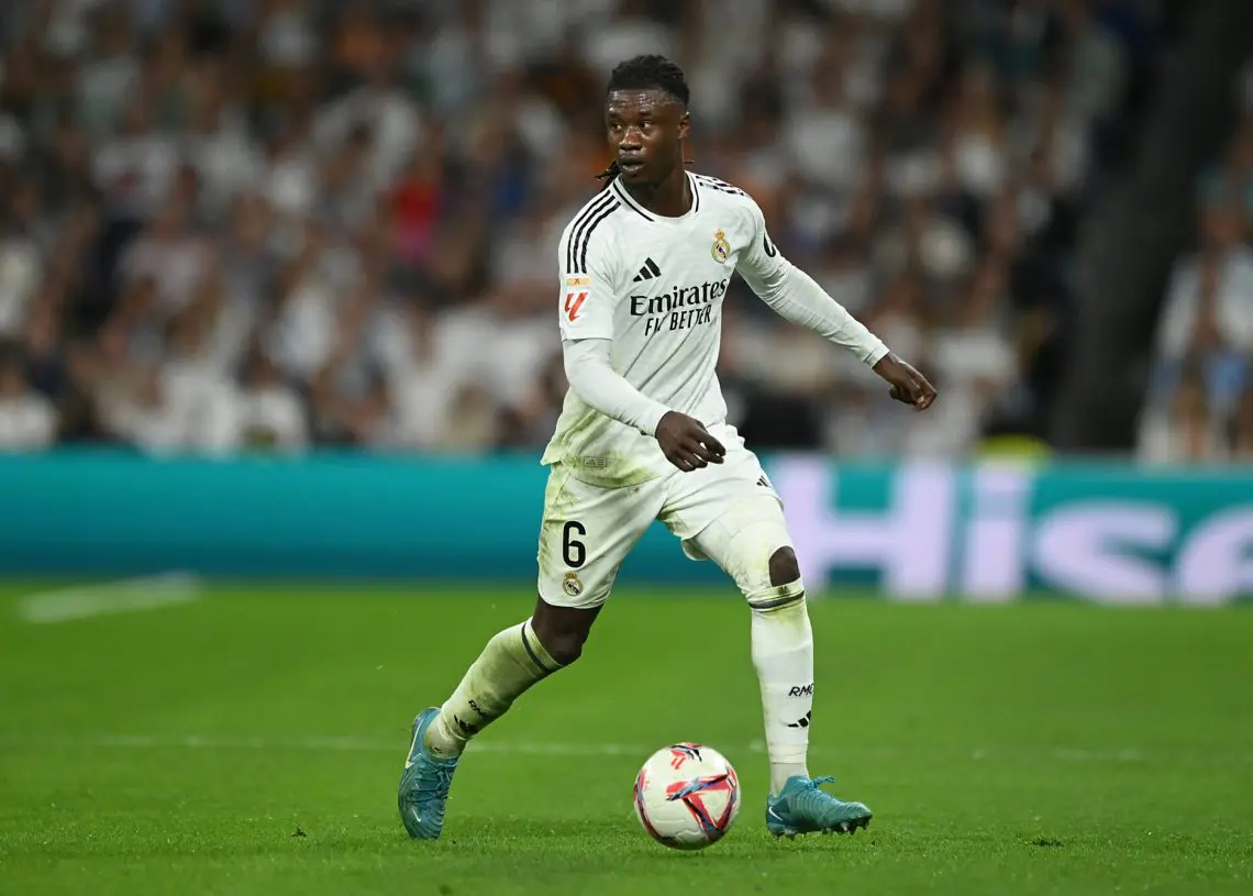
<path fill-rule="evenodd" d="M 575 219 L 561 234 L 558 268 L 561 273 L 559 321 L 561 338 L 611 340 L 616 305 L 618 264 L 605 228 L 596 218 Z"/>

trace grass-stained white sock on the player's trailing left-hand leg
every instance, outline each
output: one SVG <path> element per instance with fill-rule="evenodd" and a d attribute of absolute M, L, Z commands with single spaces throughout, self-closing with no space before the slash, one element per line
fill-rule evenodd
<path fill-rule="evenodd" d="M 471 737 L 505 714 L 536 682 L 560 669 L 535 637 L 531 620 L 496 634 L 466 670 L 426 731 L 426 746 L 439 757 L 460 756 Z"/>

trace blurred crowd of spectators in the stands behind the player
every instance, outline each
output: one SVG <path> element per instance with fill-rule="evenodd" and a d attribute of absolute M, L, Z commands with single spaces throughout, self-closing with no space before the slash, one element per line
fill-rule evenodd
<path fill-rule="evenodd" d="M 684 65 L 695 169 L 942 390 L 902 411 L 738 284 L 720 377 L 754 446 L 1039 437 L 1157 34 L 1141 0 L 6 0 L 0 445 L 535 450 L 558 237 L 637 53 Z M 1163 352 L 1202 361 L 1169 420 L 1250 416 L 1250 159 L 1244 132 L 1173 287 Z M 1193 450 L 1162 429 L 1149 454 Z"/>

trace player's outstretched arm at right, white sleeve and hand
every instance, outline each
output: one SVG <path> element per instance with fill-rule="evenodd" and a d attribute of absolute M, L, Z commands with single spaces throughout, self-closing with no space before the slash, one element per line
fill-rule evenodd
<path fill-rule="evenodd" d="M 890 351 L 809 274 L 784 258 L 767 233 L 762 209 L 756 202 L 751 202 L 751 209 L 753 238 L 736 266 L 748 287 L 784 320 L 812 330 L 870 365 L 892 387 L 888 393 L 897 401 L 920 411 L 930 407 L 936 390 L 927 378 Z"/>

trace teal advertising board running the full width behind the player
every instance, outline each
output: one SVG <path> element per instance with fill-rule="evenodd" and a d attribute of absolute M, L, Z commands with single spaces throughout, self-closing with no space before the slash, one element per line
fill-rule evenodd
<path fill-rule="evenodd" d="M 812 591 L 1000 602 L 1253 595 L 1253 474 L 1119 464 L 838 465 L 766 459 Z M 0 574 L 534 579 L 546 470 L 320 454 L 0 457 Z M 660 526 L 625 583 L 723 581 Z"/>

